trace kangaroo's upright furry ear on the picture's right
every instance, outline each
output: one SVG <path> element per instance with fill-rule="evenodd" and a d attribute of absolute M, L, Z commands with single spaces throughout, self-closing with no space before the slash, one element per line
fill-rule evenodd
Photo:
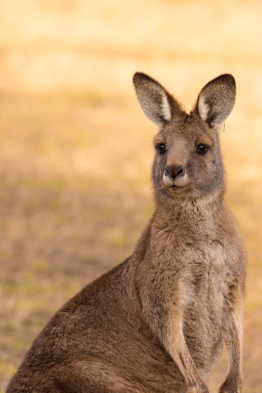
<path fill-rule="evenodd" d="M 236 82 L 231 74 L 223 74 L 208 82 L 197 97 L 193 111 L 211 128 L 219 128 L 229 116 L 236 98 Z"/>

